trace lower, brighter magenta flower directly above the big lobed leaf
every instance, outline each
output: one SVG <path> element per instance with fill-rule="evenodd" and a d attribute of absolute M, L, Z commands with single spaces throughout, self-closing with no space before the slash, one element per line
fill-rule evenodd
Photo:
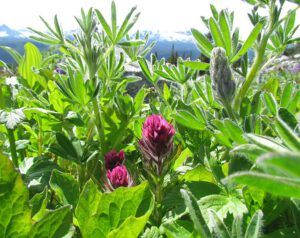
<path fill-rule="evenodd" d="M 124 165 L 119 165 L 112 170 L 107 170 L 106 177 L 113 188 L 127 187 L 129 185 L 130 177 Z"/>

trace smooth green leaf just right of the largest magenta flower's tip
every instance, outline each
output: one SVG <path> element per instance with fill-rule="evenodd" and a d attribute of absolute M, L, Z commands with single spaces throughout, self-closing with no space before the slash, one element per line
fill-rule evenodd
<path fill-rule="evenodd" d="M 194 130 L 203 130 L 205 127 L 193 114 L 186 110 L 177 110 L 175 121 Z"/>

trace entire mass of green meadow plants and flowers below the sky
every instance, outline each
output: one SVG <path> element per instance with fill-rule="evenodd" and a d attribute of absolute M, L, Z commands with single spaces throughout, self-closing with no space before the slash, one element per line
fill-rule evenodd
<path fill-rule="evenodd" d="M 148 57 L 114 1 L 71 37 L 41 17 L 50 54 L 3 46 L 0 237 L 300 237 L 300 62 L 266 72 L 300 42 L 286 1 L 243 1 L 245 40 L 211 5 L 209 33 L 191 29 L 202 61 Z"/>

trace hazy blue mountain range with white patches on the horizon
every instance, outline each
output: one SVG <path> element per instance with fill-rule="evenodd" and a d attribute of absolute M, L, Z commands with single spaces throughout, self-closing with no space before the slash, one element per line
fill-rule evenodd
<path fill-rule="evenodd" d="M 199 56 L 199 50 L 193 41 L 193 36 L 189 31 L 181 32 L 160 32 L 160 31 L 142 31 L 141 37 L 149 33 L 149 42 L 156 42 L 151 53 L 157 54 L 158 58 L 169 58 L 173 53 L 177 53 L 184 58 L 190 57 L 196 59 Z M 73 31 L 67 32 L 72 35 Z M 33 42 L 40 50 L 47 49 L 46 45 L 35 42 L 29 38 L 28 30 L 15 30 L 6 25 L 0 25 L 0 46 L 9 46 L 19 53 L 24 53 L 24 44 Z M 0 60 L 6 63 L 14 63 L 13 59 L 4 50 L 0 49 Z"/>

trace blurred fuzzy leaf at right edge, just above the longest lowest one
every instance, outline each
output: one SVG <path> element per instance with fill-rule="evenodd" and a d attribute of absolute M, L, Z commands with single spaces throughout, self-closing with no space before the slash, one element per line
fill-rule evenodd
<path fill-rule="evenodd" d="M 300 153 L 268 153 L 257 160 L 266 173 L 300 178 Z"/>

